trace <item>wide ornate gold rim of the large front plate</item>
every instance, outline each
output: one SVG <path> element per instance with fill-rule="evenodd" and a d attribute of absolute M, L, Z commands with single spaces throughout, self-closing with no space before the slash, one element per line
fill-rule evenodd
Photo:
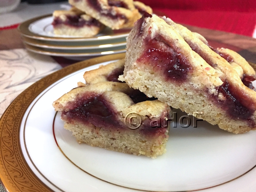
<path fill-rule="evenodd" d="M 51 73 L 25 89 L 4 111 L 0 118 L 0 179 L 7 191 L 53 192 L 31 170 L 20 146 L 20 126 L 30 104 L 53 83 L 85 67 L 124 58 L 125 53 L 80 61 Z M 28 188 L 29 187 L 29 188 Z"/>

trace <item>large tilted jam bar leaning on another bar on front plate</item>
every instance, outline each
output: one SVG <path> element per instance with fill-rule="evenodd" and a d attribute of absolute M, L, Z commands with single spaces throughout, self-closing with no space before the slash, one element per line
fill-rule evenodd
<path fill-rule="evenodd" d="M 168 59 L 158 58 L 158 52 L 176 63 L 163 65 Z M 232 62 L 220 56 L 224 52 Z M 173 68 L 163 68 L 168 64 Z M 153 15 L 136 22 L 129 34 L 124 76 L 119 80 L 188 114 L 202 111 L 204 120 L 237 134 L 256 129 L 256 92 L 241 80 L 255 78 L 254 74 L 237 53 L 214 50 L 198 33 Z"/>

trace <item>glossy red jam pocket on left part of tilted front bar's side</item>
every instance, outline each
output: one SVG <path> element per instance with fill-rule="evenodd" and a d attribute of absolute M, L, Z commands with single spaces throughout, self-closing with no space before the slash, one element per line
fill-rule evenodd
<path fill-rule="evenodd" d="M 145 39 L 146 49 L 138 58 L 138 62 L 149 64 L 154 71 L 160 71 L 167 81 L 183 82 L 188 78 L 191 65 L 179 48 L 159 37 L 159 39 Z"/>

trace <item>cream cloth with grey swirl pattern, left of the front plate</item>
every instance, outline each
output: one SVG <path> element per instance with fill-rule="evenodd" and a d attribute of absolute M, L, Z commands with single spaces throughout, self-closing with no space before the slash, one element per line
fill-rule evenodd
<path fill-rule="evenodd" d="M 50 56 L 25 49 L 0 51 L 0 117 L 23 90 L 46 75 L 61 69 Z M 0 192 L 6 192 L 0 184 Z"/>

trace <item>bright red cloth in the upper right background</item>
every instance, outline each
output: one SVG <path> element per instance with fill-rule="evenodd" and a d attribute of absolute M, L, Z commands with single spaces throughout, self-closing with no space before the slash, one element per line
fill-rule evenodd
<path fill-rule="evenodd" d="M 256 0 L 140 0 L 174 22 L 253 36 Z"/>

